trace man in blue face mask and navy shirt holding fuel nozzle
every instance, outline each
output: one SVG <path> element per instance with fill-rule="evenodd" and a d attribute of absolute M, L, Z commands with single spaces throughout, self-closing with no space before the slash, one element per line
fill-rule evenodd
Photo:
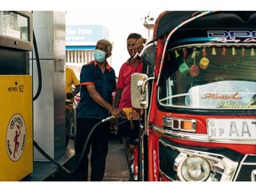
<path fill-rule="evenodd" d="M 123 110 L 112 106 L 112 92 L 116 91 L 116 75 L 107 61 L 111 52 L 112 44 L 106 39 L 100 39 L 93 52 L 94 60 L 85 64 L 81 70 L 81 100 L 78 104 L 75 139 L 77 160 L 82 155 L 85 140 L 95 124 L 111 115 L 125 117 Z M 99 124 L 92 132 L 76 180 L 87 180 L 91 146 L 91 180 L 103 180 L 108 154 L 108 133 L 109 122 Z"/>

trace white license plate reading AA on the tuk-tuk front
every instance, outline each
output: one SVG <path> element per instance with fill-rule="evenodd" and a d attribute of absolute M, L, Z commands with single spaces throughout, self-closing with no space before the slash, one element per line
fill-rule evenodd
<path fill-rule="evenodd" d="M 207 119 L 207 133 L 212 140 L 256 139 L 256 119 Z"/>

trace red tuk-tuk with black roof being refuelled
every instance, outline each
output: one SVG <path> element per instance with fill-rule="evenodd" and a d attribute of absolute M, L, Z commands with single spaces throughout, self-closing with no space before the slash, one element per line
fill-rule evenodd
<path fill-rule="evenodd" d="M 158 16 L 132 76 L 139 180 L 255 181 L 255 28 L 256 12 Z"/>

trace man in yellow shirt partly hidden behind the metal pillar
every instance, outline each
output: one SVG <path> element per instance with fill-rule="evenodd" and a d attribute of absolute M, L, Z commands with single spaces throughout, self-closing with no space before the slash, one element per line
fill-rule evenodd
<path fill-rule="evenodd" d="M 75 86 L 75 89 L 74 89 Z M 66 148 L 68 146 L 69 138 L 72 138 L 74 130 L 74 107 L 75 95 L 80 92 L 80 82 L 72 68 L 66 68 Z M 73 129 L 73 130 L 72 130 Z M 75 134 L 75 133 L 74 133 Z M 74 138 L 74 137 L 73 137 Z"/>

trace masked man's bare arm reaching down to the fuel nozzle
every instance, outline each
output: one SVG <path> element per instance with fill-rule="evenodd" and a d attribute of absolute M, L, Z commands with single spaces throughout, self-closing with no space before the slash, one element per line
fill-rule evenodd
<path fill-rule="evenodd" d="M 101 107 L 106 108 L 112 116 L 116 116 L 117 118 L 126 117 L 126 114 L 123 110 L 119 108 L 114 108 L 101 97 L 100 93 L 96 91 L 94 84 L 86 85 L 86 88 L 92 100 L 97 102 Z"/>

